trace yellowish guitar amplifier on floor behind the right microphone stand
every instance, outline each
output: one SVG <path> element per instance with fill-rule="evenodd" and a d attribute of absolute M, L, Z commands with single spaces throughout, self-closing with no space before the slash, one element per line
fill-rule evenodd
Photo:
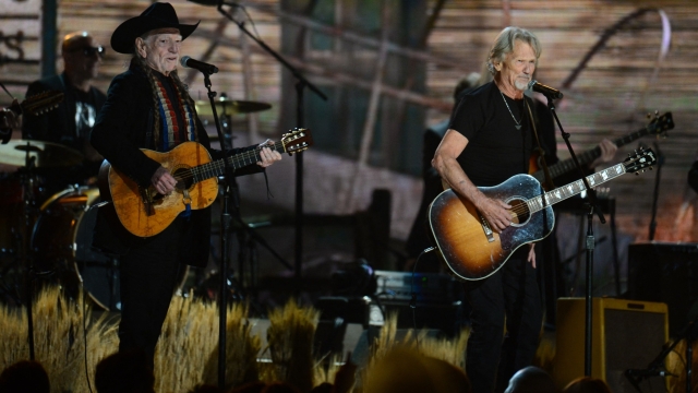
<path fill-rule="evenodd" d="M 591 377 L 614 393 L 637 392 L 625 378 L 627 369 L 646 369 L 669 340 L 666 305 L 593 298 L 591 315 Z M 586 301 L 557 300 L 556 350 L 553 378 L 559 389 L 585 374 Z M 666 392 L 661 377 L 641 382 L 642 391 Z"/>

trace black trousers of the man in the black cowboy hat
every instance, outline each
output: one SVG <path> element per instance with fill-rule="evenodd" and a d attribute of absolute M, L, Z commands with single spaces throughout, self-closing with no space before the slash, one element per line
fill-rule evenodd
<path fill-rule="evenodd" d="M 189 223 L 178 217 L 163 233 L 133 247 L 120 260 L 119 352 L 143 350 L 153 366 L 155 346 L 174 291 L 180 250 Z"/>

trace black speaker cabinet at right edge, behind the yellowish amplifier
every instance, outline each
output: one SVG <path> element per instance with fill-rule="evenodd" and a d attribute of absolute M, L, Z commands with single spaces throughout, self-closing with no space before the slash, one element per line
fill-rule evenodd
<path fill-rule="evenodd" d="M 669 333 L 675 336 L 696 318 L 698 245 L 638 242 L 628 246 L 629 299 L 661 301 L 669 307 Z"/>

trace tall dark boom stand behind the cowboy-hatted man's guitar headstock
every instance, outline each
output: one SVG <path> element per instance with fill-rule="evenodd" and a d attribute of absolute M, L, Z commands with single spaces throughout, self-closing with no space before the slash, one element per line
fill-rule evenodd
<path fill-rule="evenodd" d="M 300 72 L 291 64 L 288 63 L 279 53 L 269 48 L 263 40 L 255 37 L 244 26 L 243 22 L 236 21 L 231 14 L 222 9 L 222 5 L 240 7 L 238 4 L 225 4 L 225 1 L 219 0 L 218 12 L 226 16 L 229 21 L 237 24 L 240 29 L 257 43 L 264 50 L 266 50 L 272 57 L 274 57 L 279 63 L 281 63 L 297 80 L 296 83 L 296 117 L 297 127 L 303 127 L 303 88 L 308 86 L 313 93 L 320 96 L 323 100 L 327 100 L 327 96 L 323 94 L 315 85 L 308 81 Z M 297 290 L 301 288 L 301 267 L 303 258 L 303 155 L 296 155 L 296 264 L 293 271 L 293 277 L 296 279 Z"/>

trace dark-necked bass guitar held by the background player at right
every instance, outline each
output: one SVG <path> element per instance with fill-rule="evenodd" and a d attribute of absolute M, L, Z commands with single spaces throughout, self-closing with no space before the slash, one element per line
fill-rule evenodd
<path fill-rule="evenodd" d="M 666 112 L 662 116 L 658 116 L 653 118 L 652 121 L 650 121 L 650 123 L 647 124 L 647 127 L 643 127 L 627 135 L 621 136 L 614 140 L 613 143 L 615 143 L 616 146 L 621 147 L 642 136 L 662 135 L 662 134 L 665 135 L 666 131 L 672 129 L 674 129 L 674 119 L 672 117 L 672 112 Z M 595 146 L 594 148 L 591 148 L 589 151 L 586 151 L 579 154 L 577 156 L 577 160 L 579 162 L 579 165 L 583 166 L 593 162 L 600 156 L 601 156 L 601 147 Z M 540 155 L 538 153 L 531 156 L 529 162 L 528 172 L 529 175 L 533 176 L 535 180 L 544 184 L 545 176 L 543 175 L 543 170 L 539 165 L 539 159 L 540 159 Z M 567 174 L 568 171 L 574 170 L 576 167 L 575 167 L 575 162 L 571 158 L 567 158 L 556 164 L 553 164 L 547 168 L 550 169 L 550 177 L 554 179 L 558 176 L 562 176 L 564 174 Z"/>

